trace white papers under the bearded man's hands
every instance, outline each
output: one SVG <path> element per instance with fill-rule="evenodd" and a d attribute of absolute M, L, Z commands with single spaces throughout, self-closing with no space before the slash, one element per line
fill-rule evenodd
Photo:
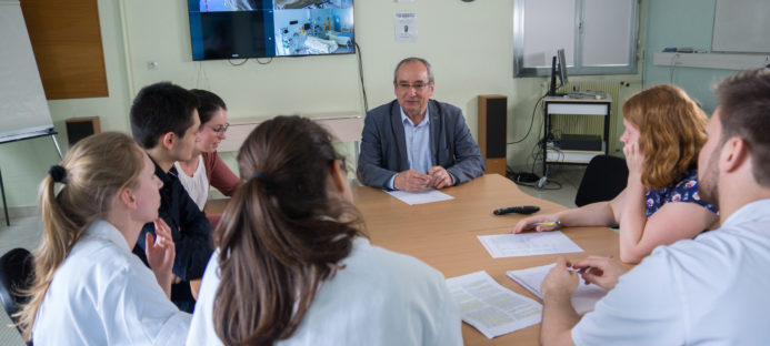
<path fill-rule="evenodd" d="M 506 272 L 506 275 L 542 299 L 542 294 L 540 293 L 540 283 L 542 283 L 548 272 L 554 265 L 556 264 L 549 264 L 521 271 L 508 271 Z M 606 294 L 607 289 L 594 284 L 586 285 L 581 282 L 580 286 L 578 286 L 578 289 L 572 295 L 572 307 L 574 307 L 574 311 L 579 315 L 592 312 L 593 306 Z"/>

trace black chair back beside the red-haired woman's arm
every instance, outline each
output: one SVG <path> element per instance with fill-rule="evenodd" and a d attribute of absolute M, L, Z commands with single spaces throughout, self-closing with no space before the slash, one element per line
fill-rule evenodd
<path fill-rule="evenodd" d="M 593 156 L 580 181 L 574 204 L 583 206 L 594 202 L 610 201 L 626 189 L 628 166 L 626 160 L 610 155 Z"/>

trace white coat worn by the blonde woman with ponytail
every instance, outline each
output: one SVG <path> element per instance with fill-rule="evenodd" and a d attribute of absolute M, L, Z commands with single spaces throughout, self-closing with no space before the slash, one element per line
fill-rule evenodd
<path fill-rule="evenodd" d="M 106 221 L 93 222 L 57 269 L 32 328 L 34 345 L 182 345 L 180 312 Z"/>

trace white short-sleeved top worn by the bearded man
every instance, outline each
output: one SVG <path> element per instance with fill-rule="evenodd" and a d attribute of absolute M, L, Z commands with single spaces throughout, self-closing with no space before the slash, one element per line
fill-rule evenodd
<path fill-rule="evenodd" d="M 683 216 L 686 217 L 686 216 Z M 770 200 L 658 246 L 572 328 L 576 345 L 768 345 Z"/>

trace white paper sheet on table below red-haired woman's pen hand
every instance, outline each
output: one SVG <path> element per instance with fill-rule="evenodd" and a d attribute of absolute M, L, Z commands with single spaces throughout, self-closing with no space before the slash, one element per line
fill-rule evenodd
<path fill-rule="evenodd" d="M 561 231 L 479 235 L 492 258 L 577 253 L 583 250 Z"/>

